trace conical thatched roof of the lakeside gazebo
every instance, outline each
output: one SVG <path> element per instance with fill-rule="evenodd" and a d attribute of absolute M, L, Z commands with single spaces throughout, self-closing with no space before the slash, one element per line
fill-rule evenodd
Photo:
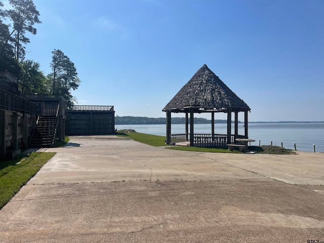
<path fill-rule="evenodd" d="M 206 64 L 201 67 L 162 111 L 249 111 L 250 107 L 231 91 Z"/>

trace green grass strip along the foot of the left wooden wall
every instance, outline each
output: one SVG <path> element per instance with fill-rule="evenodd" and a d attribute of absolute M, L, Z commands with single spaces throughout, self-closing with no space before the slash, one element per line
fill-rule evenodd
<path fill-rule="evenodd" d="M 0 162 L 0 209 L 54 154 L 32 152 L 23 157 Z"/>

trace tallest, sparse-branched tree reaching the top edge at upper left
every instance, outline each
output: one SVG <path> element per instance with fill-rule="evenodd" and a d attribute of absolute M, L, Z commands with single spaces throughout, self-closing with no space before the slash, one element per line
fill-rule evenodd
<path fill-rule="evenodd" d="M 30 42 L 29 38 L 25 36 L 26 31 L 36 34 L 37 30 L 33 25 L 41 23 L 41 21 L 38 19 L 39 12 L 32 0 L 9 0 L 9 3 L 13 9 L 3 12 L 13 22 L 12 31 L 9 35 L 13 39 L 8 38 L 7 43 L 13 42 L 15 58 L 20 61 L 25 57 L 25 47 L 22 44 Z"/>

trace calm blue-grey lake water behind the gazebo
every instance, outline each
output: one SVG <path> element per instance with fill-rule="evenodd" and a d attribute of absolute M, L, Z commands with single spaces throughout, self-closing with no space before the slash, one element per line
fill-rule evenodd
<path fill-rule="evenodd" d="M 190 126 L 190 125 L 189 125 Z M 194 133 L 211 133 L 211 124 L 195 124 Z M 139 133 L 166 136 L 166 125 L 115 125 L 115 129 L 134 129 Z M 190 129 L 190 127 L 189 127 Z M 215 133 L 226 134 L 226 124 L 215 124 Z M 234 131 L 234 127 L 232 127 Z M 172 134 L 185 133 L 184 124 L 173 124 Z M 244 125 L 238 125 L 238 134 L 244 135 Z M 281 141 L 285 148 L 294 149 L 294 143 L 299 151 L 313 151 L 315 144 L 316 152 L 324 152 L 324 123 L 267 123 L 249 124 L 249 138 L 255 139 L 251 145 L 272 145 L 281 146 Z"/>

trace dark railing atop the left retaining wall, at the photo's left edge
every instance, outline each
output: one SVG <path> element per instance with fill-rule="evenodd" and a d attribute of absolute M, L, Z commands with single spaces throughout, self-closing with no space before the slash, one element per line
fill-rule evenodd
<path fill-rule="evenodd" d="M 37 104 L 5 90 L 0 90 L 0 109 L 36 114 Z"/>

